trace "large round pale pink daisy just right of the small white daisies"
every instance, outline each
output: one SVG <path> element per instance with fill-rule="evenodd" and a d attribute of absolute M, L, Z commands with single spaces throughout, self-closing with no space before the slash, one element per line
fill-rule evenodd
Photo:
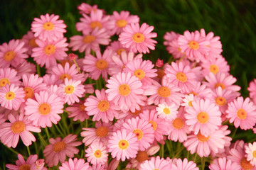
<path fill-rule="evenodd" d="M 186 109 L 185 113 L 189 130 L 193 130 L 195 135 L 201 132 L 201 135 L 205 136 L 218 130 L 218 126 L 221 125 L 221 113 L 215 103 L 211 103 L 208 99 L 200 99 L 193 101 L 192 106 Z"/>

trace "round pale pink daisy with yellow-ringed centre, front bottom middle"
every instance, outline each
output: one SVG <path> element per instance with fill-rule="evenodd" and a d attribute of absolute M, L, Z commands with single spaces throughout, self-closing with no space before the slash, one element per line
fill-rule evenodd
<path fill-rule="evenodd" d="M 136 157 L 139 142 L 133 132 L 118 130 L 110 136 L 107 147 L 113 158 L 117 157 L 117 160 L 124 162 L 125 159 Z"/>

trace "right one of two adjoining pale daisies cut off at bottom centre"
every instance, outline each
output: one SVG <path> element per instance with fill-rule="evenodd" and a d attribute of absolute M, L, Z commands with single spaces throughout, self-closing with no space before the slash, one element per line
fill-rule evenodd
<path fill-rule="evenodd" d="M 171 164 L 171 169 L 173 170 L 199 170 L 198 167 L 196 167 L 196 163 L 193 161 L 188 162 L 188 159 L 178 159 L 175 164 Z M 217 169 L 215 169 L 217 170 Z"/>

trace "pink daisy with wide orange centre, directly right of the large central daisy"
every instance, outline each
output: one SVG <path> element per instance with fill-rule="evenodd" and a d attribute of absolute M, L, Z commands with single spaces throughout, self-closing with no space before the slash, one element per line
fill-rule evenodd
<path fill-rule="evenodd" d="M 152 85 L 144 90 L 144 95 L 149 96 L 147 100 L 149 105 L 152 103 L 158 105 L 159 103 L 165 102 L 167 105 L 176 103 L 176 105 L 179 106 L 183 97 L 180 90 L 178 86 L 174 86 L 174 84 L 171 84 L 167 79 L 162 79 L 161 84 L 153 81 Z"/>

